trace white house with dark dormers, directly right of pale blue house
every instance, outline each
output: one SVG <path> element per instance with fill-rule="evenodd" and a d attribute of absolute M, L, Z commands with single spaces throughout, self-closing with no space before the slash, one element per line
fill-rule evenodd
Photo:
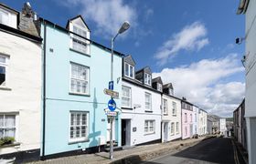
<path fill-rule="evenodd" d="M 161 138 L 161 91 L 152 87 L 149 67 L 135 72 L 132 56 L 123 57 L 122 146 L 133 146 Z"/>

